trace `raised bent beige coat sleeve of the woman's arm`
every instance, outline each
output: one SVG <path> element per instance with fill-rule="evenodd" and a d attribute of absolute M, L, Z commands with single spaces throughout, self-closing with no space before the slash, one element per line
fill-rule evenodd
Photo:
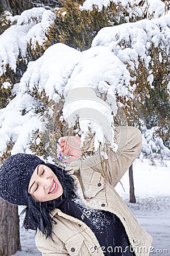
<path fill-rule="evenodd" d="M 117 126 L 114 142 L 117 152 L 108 149 L 108 160 L 101 164 L 101 156 L 94 155 L 83 161 L 80 168 L 92 168 L 104 176 L 107 170 L 107 180 L 113 187 L 118 183 L 126 170 L 137 158 L 142 145 L 141 131 L 131 126 Z M 108 144 L 109 148 L 109 144 Z"/>

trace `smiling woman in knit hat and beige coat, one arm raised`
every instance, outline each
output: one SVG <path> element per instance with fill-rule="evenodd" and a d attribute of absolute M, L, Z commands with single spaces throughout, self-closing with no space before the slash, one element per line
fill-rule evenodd
<path fill-rule="evenodd" d="M 16 154 L 1 166 L 0 196 L 12 204 L 27 205 L 24 227 L 35 229 L 36 245 L 44 256 L 146 256 L 151 236 L 138 224 L 114 190 L 141 149 L 141 133 L 117 127 L 117 152 L 107 147 L 85 159 L 79 137 L 58 141 L 58 158 L 66 170 L 46 164 L 35 155 Z M 86 151 L 93 145 L 86 141 Z M 77 159 L 77 160 L 76 160 Z"/>

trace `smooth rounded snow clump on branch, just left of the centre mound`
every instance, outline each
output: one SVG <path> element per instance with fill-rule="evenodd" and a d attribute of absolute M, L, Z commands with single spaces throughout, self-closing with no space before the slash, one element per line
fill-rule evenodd
<path fill-rule="evenodd" d="M 57 94 L 62 96 L 67 81 L 82 53 L 62 43 L 50 46 L 36 61 L 30 61 L 20 83 L 14 86 L 16 92 L 37 92 L 44 90 L 50 100 Z"/>

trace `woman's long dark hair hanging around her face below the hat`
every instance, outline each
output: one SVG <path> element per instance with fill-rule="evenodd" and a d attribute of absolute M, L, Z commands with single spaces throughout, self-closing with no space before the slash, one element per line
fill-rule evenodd
<path fill-rule="evenodd" d="M 45 166 L 48 166 L 57 176 L 63 187 L 63 197 L 71 198 L 74 192 L 73 177 L 71 177 L 66 170 L 54 164 L 46 163 Z M 28 206 L 21 213 L 25 213 L 25 218 L 23 221 L 24 228 L 27 230 L 33 229 L 36 231 L 39 229 L 42 234 L 45 234 L 46 238 L 52 238 L 52 224 L 57 224 L 57 222 L 52 219 L 50 212 L 57 208 L 58 203 L 58 199 L 46 202 L 38 202 L 28 194 Z"/>

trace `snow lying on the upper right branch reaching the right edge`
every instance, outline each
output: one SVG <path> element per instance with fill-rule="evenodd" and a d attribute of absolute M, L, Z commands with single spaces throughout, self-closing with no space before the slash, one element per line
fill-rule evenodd
<path fill-rule="evenodd" d="M 104 27 L 95 36 L 92 47 L 105 46 L 116 55 L 122 63 L 130 65 L 130 69 L 138 69 L 139 58 L 148 69 L 151 63 L 151 49 L 159 47 L 166 56 L 170 53 L 170 16 L 159 19 L 143 19 L 137 22 Z M 164 53 L 162 52 L 162 54 Z M 165 59 L 166 59 L 166 56 Z M 161 56 L 160 56 L 161 57 Z M 162 61 L 159 59 L 160 62 Z M 150 75 L 152 69 L 150 68 Z M 152 84 L 153 77 L 148 76 Z"/>

